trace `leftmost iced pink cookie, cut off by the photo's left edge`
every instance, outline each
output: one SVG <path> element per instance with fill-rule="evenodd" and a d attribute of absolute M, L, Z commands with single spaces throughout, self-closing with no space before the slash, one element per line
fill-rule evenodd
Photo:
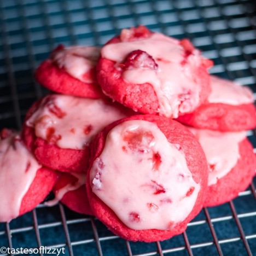
<path fill-rule="evenodd" d="M 57 181 L 57 172 L 40 165 L 18 133 L 0 132 L 0 222 L 33 210 Z"/>

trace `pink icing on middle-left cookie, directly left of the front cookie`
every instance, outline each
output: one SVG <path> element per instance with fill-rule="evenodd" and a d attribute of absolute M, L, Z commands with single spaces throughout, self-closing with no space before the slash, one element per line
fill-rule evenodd
<path fill-rule="evenodd" d="M 83 149 L 103 127 L 124 117 L 121 109 L 103 100 L 49 95 L 26 124 L 37 137 L 60 148 Z"/>

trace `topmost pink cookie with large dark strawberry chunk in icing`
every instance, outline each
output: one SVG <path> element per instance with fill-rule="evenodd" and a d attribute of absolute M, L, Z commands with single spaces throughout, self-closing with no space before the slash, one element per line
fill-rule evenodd
<path fill-rule="evenodd" d="M 177 118 L 206 100 L 211 65 L 188 39 L 139 26 L 103 46 L 97 79 L 107 96 L 135 111 Z"/>

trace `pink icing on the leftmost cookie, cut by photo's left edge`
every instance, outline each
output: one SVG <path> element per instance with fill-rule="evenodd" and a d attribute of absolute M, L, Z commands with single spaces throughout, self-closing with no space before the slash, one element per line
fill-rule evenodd
<path fill-rule="evenodd" d="M 42 166 L 18 133 L 3 130 L 0 135 L 0 222 L 9 222 L 19 216 L 21 201 Z"/>

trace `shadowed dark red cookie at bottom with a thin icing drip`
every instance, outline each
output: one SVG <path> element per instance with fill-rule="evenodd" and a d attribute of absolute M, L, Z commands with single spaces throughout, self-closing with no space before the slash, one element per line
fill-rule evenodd
<path fill-rule="evenodd" d="M 75 212 L 93 215 L 87 197 L 85 181 L 85 173 L 61 173 L 53 188 L 55 199 L 45 202 L 45 204 L 53 206 L 60 201 Z"/>

